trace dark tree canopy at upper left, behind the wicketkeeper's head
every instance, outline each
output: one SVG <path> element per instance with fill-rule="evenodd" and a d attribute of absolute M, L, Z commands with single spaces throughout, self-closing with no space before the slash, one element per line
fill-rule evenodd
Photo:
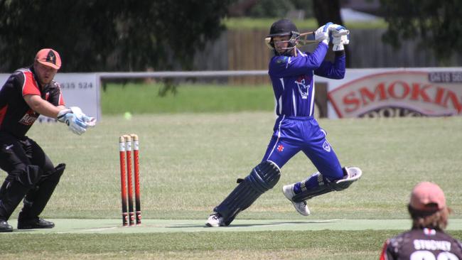
<path fill-rule="evenodd" d="M 0 71 L 54 48 L 64 72 L 190 70 L 232 0 L 0 0 Z"/>

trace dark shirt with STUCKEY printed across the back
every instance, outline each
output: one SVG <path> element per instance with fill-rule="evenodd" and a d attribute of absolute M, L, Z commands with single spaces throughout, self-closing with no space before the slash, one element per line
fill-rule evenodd
<path fill-rule="evenodd" d="M 388 239 L 380 260 L 462 260 L 462 244 L 436 229 L 411 229 Z"/>

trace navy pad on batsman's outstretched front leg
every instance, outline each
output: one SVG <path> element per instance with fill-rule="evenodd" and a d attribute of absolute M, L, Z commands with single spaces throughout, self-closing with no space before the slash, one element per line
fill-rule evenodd
<path fill-rule="evenodd" d="M 260 195 L 273 188 L 280 177 L 281 170 L 275 163 L 260 163 L 245 179 L 237 181 L 239 185 L 214 211 L 220 213 L 225 224 L 229 225 L 239 212 L 247 209 Z"/>

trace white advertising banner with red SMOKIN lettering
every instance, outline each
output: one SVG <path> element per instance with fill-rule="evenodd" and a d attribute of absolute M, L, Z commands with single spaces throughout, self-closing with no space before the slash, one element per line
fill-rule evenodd
<path fill-rule="evenodd" d="M 347 70 L 328 101 L 329 118 L 462 115 L 462 68 Z"/>

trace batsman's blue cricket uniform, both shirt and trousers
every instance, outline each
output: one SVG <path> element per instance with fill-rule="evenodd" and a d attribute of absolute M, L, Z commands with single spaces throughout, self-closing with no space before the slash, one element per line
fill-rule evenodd
<path fill-rule="evenodd" d="M 313 53 L 296 50 L 296 56 L 274 56 L 269 62 L 278 118 L 262 161 L 282 167 L 303 151 L 323 176 L 335 180 L 343 178 L 343 170 L 326 140 L 326 131 L 313 117 L 314 75 L 331 79 L 345 75 L 345 55 L 336 56 L 331 63 L 324 61 L 327 50 L 328 45 L 319 43 Z"/>

